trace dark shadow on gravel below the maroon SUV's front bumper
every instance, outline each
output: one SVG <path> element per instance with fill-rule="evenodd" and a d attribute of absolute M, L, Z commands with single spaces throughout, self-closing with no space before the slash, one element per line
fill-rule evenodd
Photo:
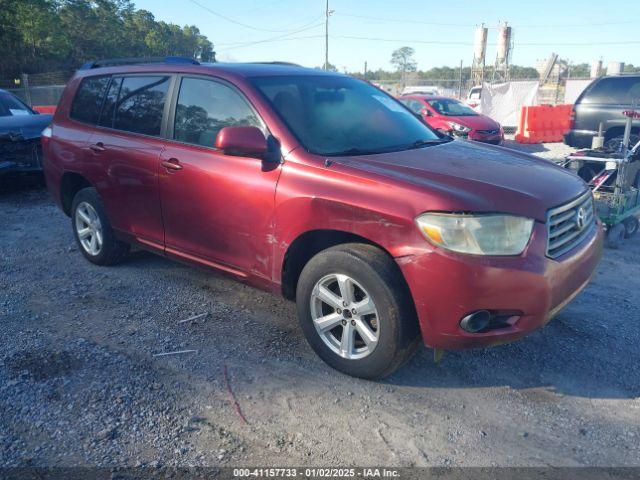
<path fill-rule="evenodd" d="M 438 364 L 433 350 L 421 348 L 386 382 L 430 388 L 505 386 L 544 388 L 562 395 L 622 399 L 640 396 L 640 362 L 633 338 L 603 338 L 597 316 L 569 307 L 542 330 L 508 345 L 446 352 Z M 615 331 L 615 328 L 612 329 Z M 631 330 L 629 330 L 631 331 Z"/>

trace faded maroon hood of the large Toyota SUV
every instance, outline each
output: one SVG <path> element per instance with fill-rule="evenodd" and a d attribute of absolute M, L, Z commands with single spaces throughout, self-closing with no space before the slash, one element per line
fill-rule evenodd
<path fill-rule="evenodd" d="M 421 211 L 502 212 L 546 221 L 548 209 L 583 193 L 570 171 L 526 153 L 462 140 L 415 150 L 333 158 L 419 187 Z"/>

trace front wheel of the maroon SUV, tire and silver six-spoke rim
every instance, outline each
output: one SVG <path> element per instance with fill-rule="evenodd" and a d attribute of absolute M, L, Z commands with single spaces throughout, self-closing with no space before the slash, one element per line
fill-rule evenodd
<path fill-rule="evenodd" d="M 341 282 L 348 295 L 340 293 Z M 328 298 L 327 290 L 333 293 L 329 302 L 320 298 Z M 347 308 L 342 303 L 345 298 Z M 318 253 L 300 274 L 296 303 L 311 348 L 347 375 L 371 380 L 386 377 L 419 345 L 417 315 L 404 278 L 393 259 L 374 246 L 350 243 Z M 335 326 L 321 333 L 314 318 L 330 320 L 323 327 Z M 347 331 L 353 336 L 344 337 Z"/>

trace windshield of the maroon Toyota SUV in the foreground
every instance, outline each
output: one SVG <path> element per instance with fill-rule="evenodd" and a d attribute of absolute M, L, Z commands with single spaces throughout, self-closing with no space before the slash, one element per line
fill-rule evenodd
<path fill-rule="evenodd" d="M 440 143 L 404 105 L 352 77 L 254 77 L 300 143 L 319 155 L 366 155 Z"/>

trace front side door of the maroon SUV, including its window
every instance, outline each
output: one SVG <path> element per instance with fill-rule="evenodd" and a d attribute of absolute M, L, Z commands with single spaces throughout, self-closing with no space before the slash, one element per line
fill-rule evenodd
<path fill-rule="evenodd" d="M 213 79 L 183 77 L 175 103 L 160 167 L 167 252 L 270 278 L 280 167 L 214 147 L 222 128 L 251 125 L 266 132 L 262 121 L 235 87 Z"/>

